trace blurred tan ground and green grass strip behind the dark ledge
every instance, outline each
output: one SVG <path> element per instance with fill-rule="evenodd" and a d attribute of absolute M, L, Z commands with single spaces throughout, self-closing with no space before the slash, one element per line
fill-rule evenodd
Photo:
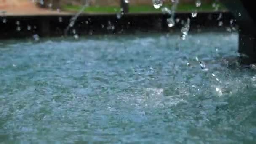
<path fill-rule="evenodd" d="M 122 0 L 0 0 L 0 11 L 7 15 L 36 15 L 75 13 L 88 3 L 85 13 L 117 13 Z M 171 6 L 171 0 L 163 5 Z M 127 0 L 130 13 L 160 13 L 161 9 L 152 6 L 152 0 Z M 200 3 L 200 7 L 195 6 Z M 176 11 L 222 11 L 224 6 L 219 0 L 180 0 Z"/>

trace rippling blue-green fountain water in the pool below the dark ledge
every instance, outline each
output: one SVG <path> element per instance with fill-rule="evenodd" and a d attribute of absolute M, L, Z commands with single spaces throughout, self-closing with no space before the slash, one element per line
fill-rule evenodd
<path fill-rule="evenodd" d="M 178 37 L 0 43 L 0 142 L 255 143 L 255 71 L 228 67 L 238 35 Z"/>

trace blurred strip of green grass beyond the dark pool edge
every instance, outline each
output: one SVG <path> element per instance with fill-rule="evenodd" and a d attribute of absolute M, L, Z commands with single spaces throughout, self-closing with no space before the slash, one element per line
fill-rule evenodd
<path fill-rule="evenodd" d="M 171 5 L 163 5 L 171 8 Z M 75 5 L 63 5 L 64 11 L 80 11 L 82 6 Z M 162 8 L 162 7 L 161 7 Z M 153 5 L 130 5 L 130 13 L 161 13 L 161 8 L 155 9 Z M 220 5 L 219 10 L 225 10 L 223 5 Z M 117 13 L 120 11 L 120 7 L 116 6 L 90 6 L 85 8 L 85 13 Z M 190 12 L 190 11 L 215 11 L 211 4 L 202 4 L 199 8 L 195 4 L 179 4 L 176 11 Z"/>

